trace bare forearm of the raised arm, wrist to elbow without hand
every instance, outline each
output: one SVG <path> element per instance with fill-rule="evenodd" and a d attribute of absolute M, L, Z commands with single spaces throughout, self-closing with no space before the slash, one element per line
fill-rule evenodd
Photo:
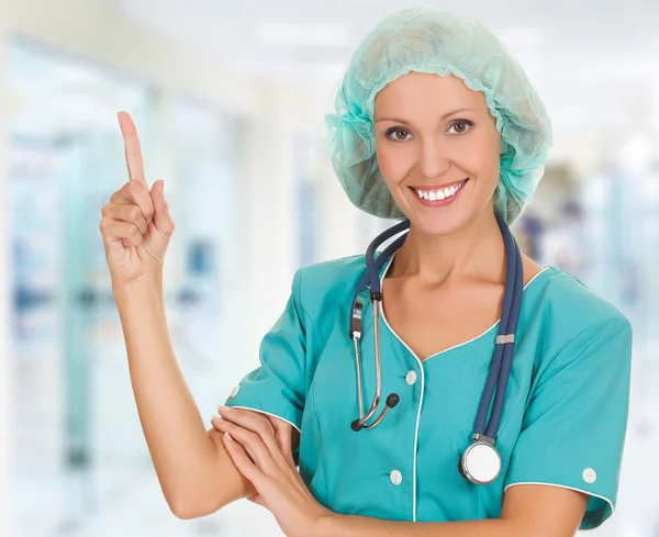
<path fill-rule="evenodd" d="M 113 287 L 131 383 L 160 488 L 179 518 L 214 513 L 255 493 L 235 468 L 222 434 L 205 430 L 171 346 L 161 272 Z"/>

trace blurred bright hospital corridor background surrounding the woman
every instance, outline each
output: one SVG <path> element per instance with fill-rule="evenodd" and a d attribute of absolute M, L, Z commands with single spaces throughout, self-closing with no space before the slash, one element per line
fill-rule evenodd
<path fill-rule="evenodd" d="M 294 270 L 389 226 L 346 199 L 322 120 L 372 21 L 424 4 L 492 29 L 547 104 L 555 146 L 512 231 L 634 325 L 617 510 L 592 533 L 659 535 L 659 4 L 643 0 L 0 3 L 0 535 L 281 535 L 248 502 L 180 521 L 159 491 L 97 230 L 125 177 L 116 112 L 167 183 L 168 323 L 210 426 Z"/>

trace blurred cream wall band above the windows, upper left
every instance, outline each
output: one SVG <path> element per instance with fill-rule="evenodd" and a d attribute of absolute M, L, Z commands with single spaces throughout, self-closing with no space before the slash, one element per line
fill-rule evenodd
<path fill-rule="evenodd" d="M 147 78 L 171 91 L 249 112 L 250 80 L 211 56 L 139 27 L 110 0 L 4 0 L 5 31 L 35 37 Z"/>

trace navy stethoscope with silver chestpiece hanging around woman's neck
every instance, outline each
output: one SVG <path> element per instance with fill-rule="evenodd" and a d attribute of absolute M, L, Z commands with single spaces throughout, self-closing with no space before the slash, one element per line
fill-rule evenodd
<path fill-rule="evenodd" d="M 494 447 L 503 404 L 505 391 L 507 388 L 509 376 L 511 371 L 511 361 L 513 359 L 513 347 L 515 343 L 515 333 L 520 321 L 520 311 L 522 309 L 522 292 L 524 290 L 524 275 L 522 267 L 522 256 L 507 224 L 496 215 L 496 222 L 503 235 L 506 258 L 505 291 L 503 295 L 503 307 L 501 313 L 501 323 L 499 325 L 499 335 L 494 344 L 494 354 L 490 363 L 490 372 L 478 407 L 476 424 L 473 427 L 472 443 L 465 450 L 458 461 L 459 472 L 474 484 L 489 484 L 496 480 L 501 472 L 501 456 Z M 405 242 L 407 234 L 401 235 L 393 240 L 376 258 L 376 249 L 384 242 L 389 240 L 399 233 L 409 230 L 410 221 L 404 220 L 394 226 L 378 235 L 366 250 L 366 273 L 359 281 L 355 299 L 353 300 L 350 316 L 349 337 L 355 345 L 355 363 L 357 369 L 357 396 L 359 402 L 359 418 L 355 419 L 350 427 L 353 430 L 362 428 L 373 428 L 379 425 L 384 416 L 400 401 L 396 393 L 390 393 L 387 396 L 386 406 L 380 415 L 371 424 L 371 419 L 380 405 L 382 396 L 382 371 L 380 362 L 380 314 L 382 309 L 382 292 L 380 289 L 379 270 L 394 251 L 396 251 Z M 376 395 L 368 413 L 364 413 L 364 390 L 361 381 L 361 314 L 364 303 L 359 300 L 361 290 L 367 288 L 370 293 L 370 300 L 373 310 L 373 346 L 376 354 Z M 494 396 L 494 405 L 488 421 L 488 410 Z M 485 422 L 488 421 L 487 427 Z"/>

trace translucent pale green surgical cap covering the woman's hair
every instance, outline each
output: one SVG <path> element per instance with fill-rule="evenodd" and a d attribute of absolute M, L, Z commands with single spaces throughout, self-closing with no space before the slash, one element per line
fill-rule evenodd
<path fill-rule="evenodd" d="M 446 11 L 405 9 L 380 22 L 353 55 L 334 112 L 325 115 L 325 147 L 348 198 L 362 211 L 404 219 L 376 156 L 373 100 L 410 71 L 455 75 L 482 91 L 501 133 L 494 210 L 512 225 L 529 203 L 552 144 L 545 105 L 511 52 L 481 23 Z"/>

